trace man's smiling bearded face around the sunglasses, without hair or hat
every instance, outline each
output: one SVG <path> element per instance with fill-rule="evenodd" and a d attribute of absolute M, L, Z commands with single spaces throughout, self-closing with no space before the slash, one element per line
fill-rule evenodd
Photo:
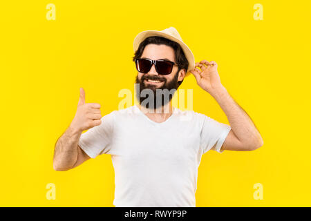
<path fill-rule="evenodd" d="M 144 47 L 144 51 L 142 52 L 142 56 L 140 58 L 147 58 L 152 60 L 158 60 L 158 59 L 168 59 L 169 61 L 175 61 L 175 51 L 170 46 L 166 45 L 156 45 L 156 44 L 148 44 Z M 167 102 L 171 101 L 173 98 L 173 95 L 169 95 L 169 100 L 164 99 L 164 95 L 156 96 L 156 89 L 167 89 L 168 91 L 172 91 L 171 89 L 177 90 L 178 88 L 178 81 L 181 81 L 185 75 L 182 75 L 184 70 L 180 71 L 180 75 L 177 73 L 178 66 L 174 65 L 173 70 L 171 74 L 169 75 L 159 75 L 156 71 L 156 67 L 153 66 L 149 70 L 149 73 L 140 73 L 138 72 L 138 75 L 136 77 L 136 84 L 140 85 L 140 91 L 136 91 L 136 95 L 138 100 L 140 101 L 140 104 L 146 97 L 141 97 L 140 93 L 142 90 L 149 88 L 153 91 L 153 97 L 154 97 L 154 107 L 159 108 L 160 106 L 164 106 L 164 104 L 167 104 Z M 160 81 L 160 83 L 155 82 L 149 82 L 148 80 L 157 80 Z M 163 93 L 165 90 L 163 90 Z M 162 97 L 162 102 L 159 102 Z M 157 102 L 158 101 L 158 102 Z M 146 106 L 148 108 L 148 105 Z"/>

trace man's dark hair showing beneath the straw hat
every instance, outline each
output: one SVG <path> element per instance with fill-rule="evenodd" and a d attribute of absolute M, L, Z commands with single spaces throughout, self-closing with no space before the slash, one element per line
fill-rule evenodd
<path fill-rule="evenodd" d="M 133 57 L 134 62 L 135 62 L 136 58 L 140 58 L 142 56 L 142 52 L 144 52 L 144 47 L 146 47 L 148 44 L 157 44 L 157 45 L 164 44 L 166 46 L 170 46 L 171 48 L 173 48 L 173 50 L 175 51 L 175 61 L 178 64 L 177 74 L 179 73 L 180 70 L 182 70 L 184 68 L 185 68 L 186 73 L 187 73 L 189 62 L 185 56 L 185 53 L 183 52 L 182 48 L 180 47 L 180 45 L 175 41 L 171 41 L 169 39 L 166 39 L 166 38 L 160 37 L 160 36 L 151 36 L 151 37 L 147 37 L 146 39 L 144 39 L 144 41 L 142 41 L 140 43 L 138 50 L 135 51 L 135 55 Z M 185 79 L 185 77 L 184 77 L 184 79 Z M 184 81 L 184 79 L 182 79 L 182 81 Z M 178 86 L 180 86 L 180 84 L 182 84 L 182 81 L 178 81 Z"/>

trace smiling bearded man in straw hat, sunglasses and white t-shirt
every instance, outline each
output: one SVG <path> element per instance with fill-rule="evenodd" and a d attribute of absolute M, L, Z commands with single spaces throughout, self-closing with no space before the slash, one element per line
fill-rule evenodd
<path fill-rule="evenodd" d="M 220 83 L 216 62 L 194 64 L 191 50 L 175 28 L 141 32 L 135 37 L 134 51 L 140 105 L 102 117 L 100 104 L 86 104 L 80 88 L 77 113 L 55 145 L 54 169 L 66 171 L 97 155 L 110 154 L 115 206 L 196 206 L 202 154 L 211 149 L 252 151 L 263 140 Z M 175 91 L 189 73 L 216 99 L 230 126 L 171 105 L 170 90 Z M 88 131 L 82 134 L 84 130 Z"/>

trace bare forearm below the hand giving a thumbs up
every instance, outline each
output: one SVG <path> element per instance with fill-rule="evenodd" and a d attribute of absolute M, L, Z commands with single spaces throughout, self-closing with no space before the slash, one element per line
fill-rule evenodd
<path fill-rule="evenodd" d="M 77 161 L 78 143 L 82 132 L 68 127 L 55 144 L 53 167 L 57 171 L 71 169 Z"/>

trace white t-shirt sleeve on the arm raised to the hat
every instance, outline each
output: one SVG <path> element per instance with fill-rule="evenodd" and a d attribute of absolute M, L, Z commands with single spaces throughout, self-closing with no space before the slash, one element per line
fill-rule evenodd
<path fill-rule="evenodd" d="M 202 130 L 200 133 L 200 145 L 203 153 L 206 153 L 210 149 L 223 153 L 221 146 L 231 130 L 231 126 L 217 122 L 211 117 L 199 114 L 202 117 Z"/>

